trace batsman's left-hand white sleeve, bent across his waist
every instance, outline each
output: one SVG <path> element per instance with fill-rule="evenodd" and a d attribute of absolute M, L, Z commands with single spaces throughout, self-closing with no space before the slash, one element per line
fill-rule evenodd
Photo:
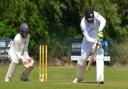
<path fill-rule="evenodd" d="M 80 24 L 81 30 L 83 31 L 83 34 L 86 38 L 87 41 L 91 42 L 91 43 L 95 43 L 96 40 L 94 38 L 92 38 L 87 31 L 86 25 L 85 25 L 85 18 L 82 19 L 81 24 Z"/>

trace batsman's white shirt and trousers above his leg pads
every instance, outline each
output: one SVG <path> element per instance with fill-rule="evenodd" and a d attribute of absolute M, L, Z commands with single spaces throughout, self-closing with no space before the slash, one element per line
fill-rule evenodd
<path fill-rule="evenodd" d="M 102 31 L 106 20 L 98 12 L 94 11 L 94 23 L 88 23 L 85 17 L 81 20 L 80 27 L 83 32 L 83 41 L 81 44 L 81 57 L 87 59 L 95 46 L 97 32 Z"/>

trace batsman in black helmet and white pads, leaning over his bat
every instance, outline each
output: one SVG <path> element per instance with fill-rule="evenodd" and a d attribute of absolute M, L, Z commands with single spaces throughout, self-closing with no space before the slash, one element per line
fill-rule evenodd
<path fill-rule="evenodd" d="M 77 74 L 73 83 L 79 83 L 83 80 L 86 61 L 90 54 L 96 60 L 96 81 L 100 84 L 104 83 L 104 51 L 100 41 L 103 38 L 102 31 L 105 24 L 106 20 L 100 13 L 91 8 L 85 9 L 84 17 L 80 23 L 84 35 L 81 44 L 81 58 L 77 61 Z"/>

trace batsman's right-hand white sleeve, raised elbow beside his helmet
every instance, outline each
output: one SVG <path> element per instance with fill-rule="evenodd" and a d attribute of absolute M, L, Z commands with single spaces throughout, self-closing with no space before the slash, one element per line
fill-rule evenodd
<path fill-rule="evenodd" d="M 103 16 L 101 16 L 98 12 L 95 12 L 95 11 L 94 11 L 94 16 L 100 22 L 98 31 L 102 31 L 106 24 L 105 18 Z"/>

